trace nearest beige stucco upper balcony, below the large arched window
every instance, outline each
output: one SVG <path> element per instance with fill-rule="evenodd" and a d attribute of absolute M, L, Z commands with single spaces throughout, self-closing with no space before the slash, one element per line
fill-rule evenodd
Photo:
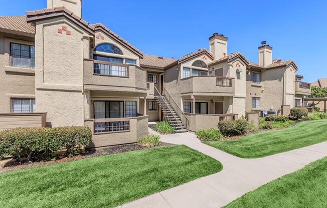
<path fill-rule="evenodd" d="M 84 88 L 146 93 L 146 71 L 136 65 L 85 59 Z"/>

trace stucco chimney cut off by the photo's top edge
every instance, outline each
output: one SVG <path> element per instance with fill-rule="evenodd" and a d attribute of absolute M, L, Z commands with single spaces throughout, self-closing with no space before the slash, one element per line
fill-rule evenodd
<path fill-rule="evenodd" d="M 48 8 L 65 6 L 73 14 L 82 17 L 82 0 L 48 0 Z"/>

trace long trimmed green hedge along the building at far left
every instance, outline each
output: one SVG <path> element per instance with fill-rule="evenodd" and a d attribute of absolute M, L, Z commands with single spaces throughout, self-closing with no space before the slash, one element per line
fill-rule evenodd
<path fill-rule="evenodd" d="M 60 148 L 71 153 L 73 148 L 81 149 L 92 141 L 89 127 L 33 127 L 13 128 L 0 131 L 0 157 L 4 155 L 23 156 L 28 161 L 39 159 Z"/>

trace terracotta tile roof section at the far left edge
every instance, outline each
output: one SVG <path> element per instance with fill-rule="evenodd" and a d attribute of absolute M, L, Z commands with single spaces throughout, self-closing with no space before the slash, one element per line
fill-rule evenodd
<path fill-rule="evenodd" d="M 26 16 L 0 16 L 0 28 L 35 34 L 35 27 L 27 23 Z"/>

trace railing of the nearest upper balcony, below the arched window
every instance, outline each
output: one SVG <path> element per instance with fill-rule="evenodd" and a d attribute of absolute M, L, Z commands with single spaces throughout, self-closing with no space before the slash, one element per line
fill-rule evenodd
<path fill-rule="evenodd" d="M 94 74 L 128 77 L 128 65 L 94 60 Z"/>

